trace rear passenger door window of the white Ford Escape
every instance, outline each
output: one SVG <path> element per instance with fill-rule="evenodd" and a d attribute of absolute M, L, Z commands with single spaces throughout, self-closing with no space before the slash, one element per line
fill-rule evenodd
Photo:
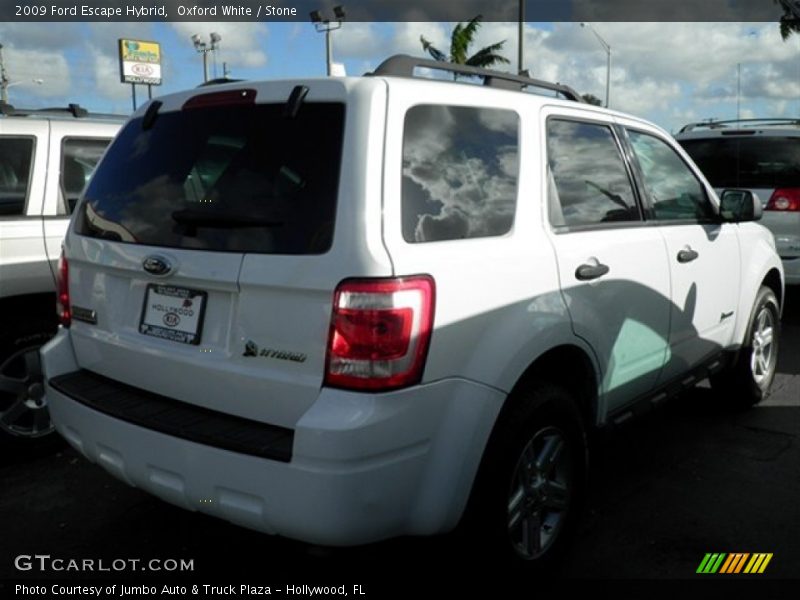
<path fill-rule="evenodd" d="M 547 120 L 548 202 L 555 227 L 641 220 L 611 128 Z"/>

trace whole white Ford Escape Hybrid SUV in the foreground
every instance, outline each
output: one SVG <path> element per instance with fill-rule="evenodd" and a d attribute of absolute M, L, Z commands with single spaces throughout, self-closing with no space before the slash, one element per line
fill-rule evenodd
<path fill-rule="evenodd" d="M 768 393 L 783 273 L 760 210 L 645 121 L 470 67 L 165 96 L 67 235 L 53 421 L 246 527 L 347 545 L 474 514 L 541 565 L 589 429 L 708 376 Z"/>

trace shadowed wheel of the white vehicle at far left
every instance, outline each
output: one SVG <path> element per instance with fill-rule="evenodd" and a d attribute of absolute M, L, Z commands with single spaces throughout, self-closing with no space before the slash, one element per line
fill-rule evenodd
<path fill-rule="evenodd" d="M 47 451 L 60 445 L 44 399 L 39 349 L 55 335 L 47 319 L 12 325 L 0 333 L 0 445 Z"/>

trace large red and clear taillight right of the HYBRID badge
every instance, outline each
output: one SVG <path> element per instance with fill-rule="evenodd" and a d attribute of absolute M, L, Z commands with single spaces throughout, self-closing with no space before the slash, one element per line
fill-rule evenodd
<path fill-rule="evenodd" d="M 422 378 L 433 327 L 427 275 L 343 281 L 333 298 L 325 385 L 388 390 Z"/>

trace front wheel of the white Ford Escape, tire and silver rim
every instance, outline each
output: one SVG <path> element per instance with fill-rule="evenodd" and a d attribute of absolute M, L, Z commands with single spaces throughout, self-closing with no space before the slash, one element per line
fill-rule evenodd
<path fill-rule="evenodd" d="M 729 367 L 713 375 L 711 386 L 736 408 L 769 396 L 778 363 L 780 308 L 775 293 L 762 286 L 753 304 L 744 343 Z"/>

